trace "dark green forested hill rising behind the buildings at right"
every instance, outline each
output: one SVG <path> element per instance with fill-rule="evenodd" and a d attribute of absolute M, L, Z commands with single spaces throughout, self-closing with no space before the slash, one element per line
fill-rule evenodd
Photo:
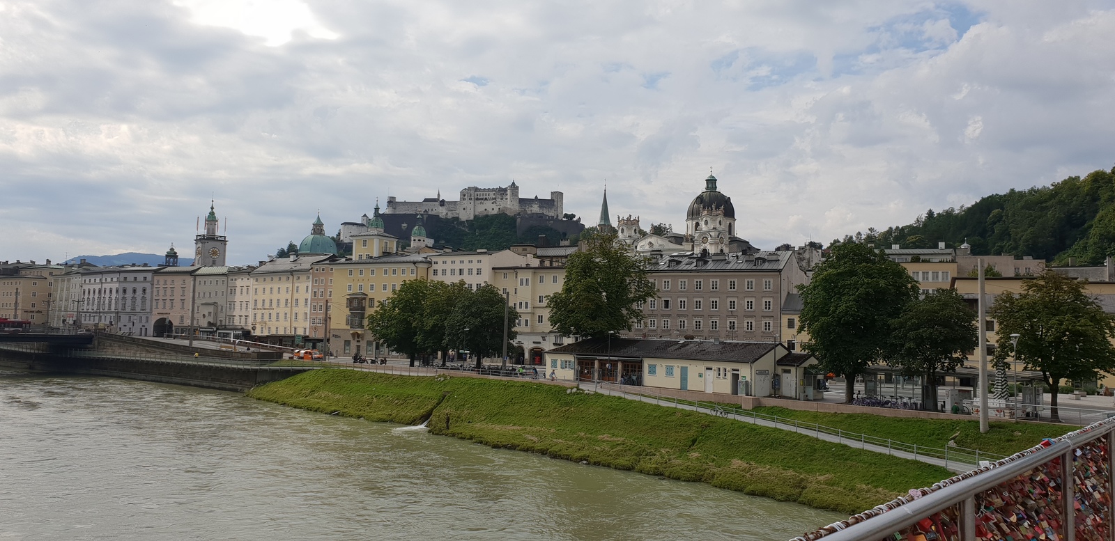
<path fill-rule="evenodd" d="M 930 209 L 913 224 L 871 228 L 844 240 L 903 248 L 933 248 L 939 242 L 953 247 L 967 240 L 975 255 L 1034 256 L 1058 265 L 1072 256 L 1078 265 L 1101 265 L 1115 255 L 1115 169 L 989 195 L 969 207 Z"/>

